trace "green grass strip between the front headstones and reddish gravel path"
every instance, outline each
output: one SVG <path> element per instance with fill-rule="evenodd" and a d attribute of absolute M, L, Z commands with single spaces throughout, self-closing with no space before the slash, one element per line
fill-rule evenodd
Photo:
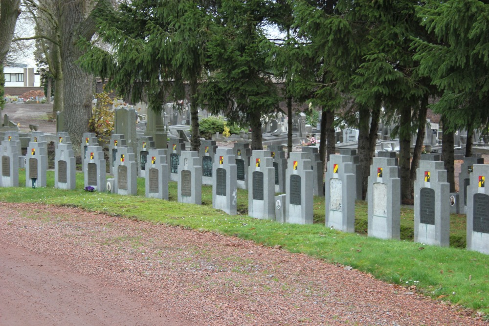
<path fill-rule="evenodd" d="M 138 178 L 138 196 L 89 193 L 83 190 L 83 174 L 77 173 L 77 189 L 54 189 L 54 172 L 47 172 L 46 188 L 25 188 L 25 170 L 19 188 L 0 188 L 0 200 L 76 206 L 168 225 L 219 232 L 284 250 L 301 252 L 331 263 L 350 265 L 389 283 L 415 286 L 435 299 L 473 309 L 489 319 L 489 256 L 465 250 L 466 218 L 450 216 L 450 247 L 413 243 L 413 209 L 401 208 L 401 240 L 366 237 L 367 204 L 356 202 L 356 234 L 325 227 L 324 197 L 314 197 L 314 224 L 296 225 L 246 216 L 247 192 L 238 190 L 238 212 L 229 216 L 212 208 L 212 188 L 202 187 L 202 205 L 177 202 L 177 183 L 170 182 L 169 201 L 145 198 L 144 179 Z"/>

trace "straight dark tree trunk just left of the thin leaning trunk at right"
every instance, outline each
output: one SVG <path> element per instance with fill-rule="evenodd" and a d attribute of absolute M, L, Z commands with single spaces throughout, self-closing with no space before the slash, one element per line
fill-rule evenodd
<path fill-rule="evenodd" d="M 411 200 L 411 107 L 400 108 L 399 167 L 401 200 Z"/>

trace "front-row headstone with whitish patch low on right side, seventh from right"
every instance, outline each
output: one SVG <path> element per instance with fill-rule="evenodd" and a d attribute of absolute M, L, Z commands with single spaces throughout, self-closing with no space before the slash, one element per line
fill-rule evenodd
<path fill-rule="evenodd" d="M 218 148 L 214 155 L 212 207 L 236 215 L 236 159 L 230 148 Z"/>

